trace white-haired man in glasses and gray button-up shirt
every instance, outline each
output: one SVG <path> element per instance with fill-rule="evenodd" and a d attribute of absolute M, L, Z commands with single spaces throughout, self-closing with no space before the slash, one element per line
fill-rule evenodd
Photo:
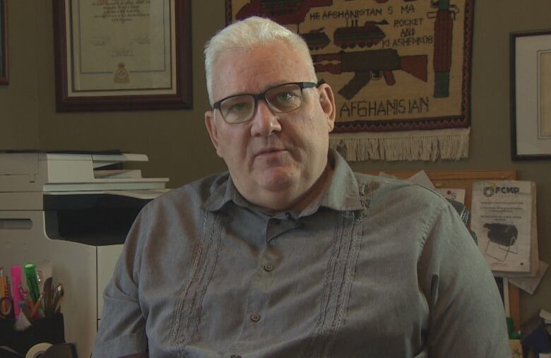
<path fill-rule="evenodd" d="M 142 210 L 94 357 L 510 356 L 494 279 L 451 205 L 328 150 L 333 91 L 299 36 L 230 25 L 206 77 L 229 174 Z"/>

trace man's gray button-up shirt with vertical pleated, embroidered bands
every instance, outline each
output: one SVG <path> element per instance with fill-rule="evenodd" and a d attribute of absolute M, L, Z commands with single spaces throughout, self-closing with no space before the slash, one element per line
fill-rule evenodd
<path fill-rule="evenodd" d="M 227 173 L 149 203 L 93 357 L 510 357 L 494 278 L 451 205 L 353 173 L 266 215 Z"/>

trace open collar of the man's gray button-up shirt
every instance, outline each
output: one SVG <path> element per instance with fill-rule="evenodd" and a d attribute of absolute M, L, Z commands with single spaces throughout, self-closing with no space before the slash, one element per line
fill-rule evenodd
<path fill-rule="evenodd" d="M 355 174 L 336 150 L 329 149 L 328 165 L 333 167 L 333 174 L 324 193 L 312 201 L 298 216 L 315 213 L 320 206 L 333 210 L 360 210 L 362 208 Z M 224 175 L 225 180 L 214 182 L 211 195 L 203 203 L 202 208 L 216 211 L 230 201 L 244 208 L 251 208 L 251 204 L 235 188 L 230 174 L 226 172 Z"/>

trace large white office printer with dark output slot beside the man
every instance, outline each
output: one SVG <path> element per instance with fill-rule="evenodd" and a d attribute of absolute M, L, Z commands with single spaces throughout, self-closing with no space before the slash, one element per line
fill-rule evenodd
<path fill-rule="evenodd" d="M 65 339 L 90 357 L 103 300 L 126 233 L 139 210 L 168 191 L 142 178 L 123 153 L 0 153 L 0 265 L 49 260 L 64 285 Z M 40 269 L 40 267 L 39 267 Z"/>

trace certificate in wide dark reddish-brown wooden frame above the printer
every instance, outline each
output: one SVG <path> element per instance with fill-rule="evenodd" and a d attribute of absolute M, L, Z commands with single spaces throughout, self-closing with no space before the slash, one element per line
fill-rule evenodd
<path fill-rule="evenodd" d="M 53 0 L 56 108 L 191 108 L 190 0 Z"/>

